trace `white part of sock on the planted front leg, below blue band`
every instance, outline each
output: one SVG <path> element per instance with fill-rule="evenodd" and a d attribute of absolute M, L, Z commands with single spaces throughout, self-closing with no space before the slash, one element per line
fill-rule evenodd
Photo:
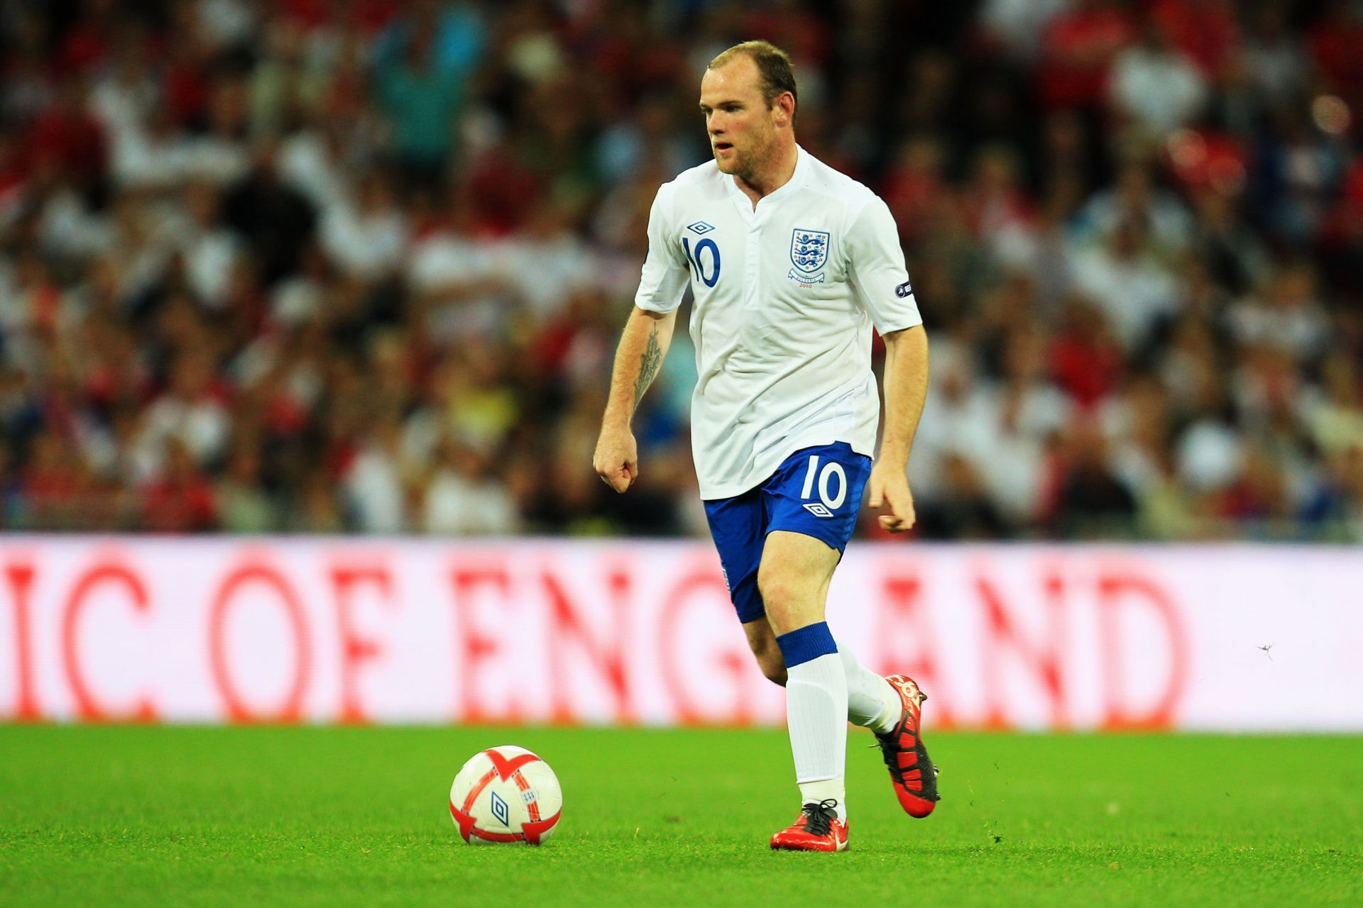
<path fill-rule="evenodd" d="M 844 776 L 848 746 L 848 679 L 838 653 L 830 652 L 786 670 L 785 719 L 795 756 L 801 803 L 838 802 L 846 821 Z"/>

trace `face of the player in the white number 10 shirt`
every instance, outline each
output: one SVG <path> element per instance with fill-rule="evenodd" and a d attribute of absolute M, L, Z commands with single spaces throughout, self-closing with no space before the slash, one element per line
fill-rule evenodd
<path fill-rule="evenodd" d="M 722 173 L 746 177 L 761 170 L 776 147 L 777 112 L 762 97 L 761 74 L 748 57 L 706 69 L 701 79 L 701 113 Z"/>

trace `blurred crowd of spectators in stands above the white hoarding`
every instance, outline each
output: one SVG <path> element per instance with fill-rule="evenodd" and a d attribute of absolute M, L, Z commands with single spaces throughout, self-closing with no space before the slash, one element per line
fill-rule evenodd
<path fill-rule="evenodd" d="M 1363 540 L 1360 3 L 0 11 L 5 528 L 705 532 L 683 332 L 635 489 L 592 448 L 701 74 L 767 38 L 900 225 L 920 538 Z"/>

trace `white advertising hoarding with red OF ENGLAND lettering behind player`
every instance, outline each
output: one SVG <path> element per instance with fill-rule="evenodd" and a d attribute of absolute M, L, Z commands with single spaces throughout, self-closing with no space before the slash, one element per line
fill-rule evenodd
<path fill-rule="evenodd" d="M 1363 730 L 1363 553 L 855 543 L 934 727 Z M 0 536 L 0 719 L 778 724 L 703 542 Z"/>

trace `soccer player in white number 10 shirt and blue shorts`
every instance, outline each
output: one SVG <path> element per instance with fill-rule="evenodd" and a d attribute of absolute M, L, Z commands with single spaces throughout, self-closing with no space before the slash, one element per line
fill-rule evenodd
<path fill-rule="evenodd" d="M 690 280 L 699 381 L 692 452 L 729 596 L 763 674 L 785 685 L 801 810 L 773 848 L 846 848 L 846 723 L 870 727 L 906 813 L 936 803 L 919 735 L 927 697 L 838 647 L 825 600 L 863 490 L 880 525 L 913 525 L 905 475 L 927 391 L 927 335 L 886 204 L 795 142 L 791 59 L 765 41 L 701 80 L 714 161 L 664 184 L 616 350 L 593 466 L 616 491 L 639 476 L 630 421 L 672 340 Z M 886 346 L 886 425 L 871 325 Z"/>

